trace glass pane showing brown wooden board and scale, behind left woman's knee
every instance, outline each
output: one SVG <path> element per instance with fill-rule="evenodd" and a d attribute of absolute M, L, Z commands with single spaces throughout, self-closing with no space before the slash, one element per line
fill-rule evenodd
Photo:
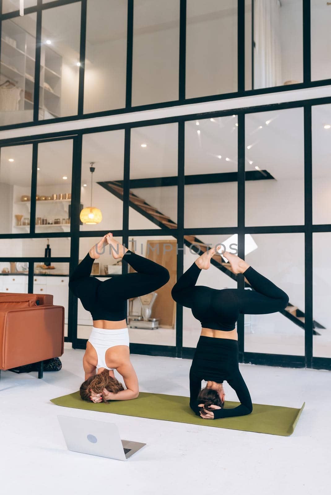
<path fill-rule="evenodd" d="M 176 240 L 171 236 L 131 237 L 128 248 L 147 259 L 159 263 L 169 271 L 170 280 L 154 293 L 134 297 L 128 301 L 128 326 L 130 342 L 176 345 L 176 304 L 171 289 L 176 282 L 177 250 Z M 134 272 L 132 267 L 129 273 Z"/>

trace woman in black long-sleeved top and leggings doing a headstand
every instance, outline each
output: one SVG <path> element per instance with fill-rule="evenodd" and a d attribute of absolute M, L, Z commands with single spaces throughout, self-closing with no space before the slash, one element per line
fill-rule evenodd
<path fill-rule="evenodd" d="M 254 291 L 210 289 L 196 286 L 201 270 L 208 270 L 215 248 L 203 253 L 180 277 L 172 289 L 176 302 L 192 309 L 202 330 L 190 369 L 190 407 L 203 419 L 243 416 L 252 412 L 252 401 L 239 371 L 238 335 L 235 323 L 239 314 L 267 314 L 284 309 L 288 296 L 270 280 L 238 256 L 222 253 L 233 273 L 243 273 Z M 201 381 L 207 381 L 201 390 Z M 223 381 L 235 390 L 240 405 L 224 409 Z"/>

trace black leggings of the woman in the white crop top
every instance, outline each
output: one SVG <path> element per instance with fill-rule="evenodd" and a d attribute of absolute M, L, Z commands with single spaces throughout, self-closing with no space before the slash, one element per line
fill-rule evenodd
<path fill-rule="evenodd" d="M 69 288 L 94 320 L 125 319 L 126 302 L 154 292 L 169 280 L 169 272 L 154 261 L 127 251 L 123 258 L 136 273 L 116 275 L 101 282 L 91 277 L 94 259 L 87 253 L 69 279 Z"/>

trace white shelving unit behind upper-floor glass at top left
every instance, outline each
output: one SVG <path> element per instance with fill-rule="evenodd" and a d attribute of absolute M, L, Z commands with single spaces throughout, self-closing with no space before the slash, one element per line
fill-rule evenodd
<path fill-rule="evenodd" d="M 33 111 L 35 48 L 35 37 L 11 20 L 2 22 L 0 84 L 8 79 L 15 86 L 22 89 L 18 111 Z M 61 70 L 61 55 L 47 45 L 42 45 L 39 94 L 40 118 L 52 118 L 52 116 L 58 117 L 60 115 Z M 2 114 L 2 123 L 7 123 L 6 114 L 11 114 L 12 112 L 1 112 L 0 109 L 0 113 Z M 30 120 L 30 113 L 28 115 L 30 118 L 22 118 L 22 121 Z M 8 119 L 10 119 L 9 115 Z"/>

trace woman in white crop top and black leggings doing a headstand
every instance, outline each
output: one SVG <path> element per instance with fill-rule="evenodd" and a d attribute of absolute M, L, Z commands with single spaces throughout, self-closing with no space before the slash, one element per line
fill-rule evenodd
<path fill-rule="evenodd" d="M 101 282 L 91 277 L 92 265 L 109 245 L 115 259 L 122 258 L 136 273 Z M 106 402 L 138 396 L 138 379 L 130 362 L 129 335 L 125 320 L 127 300 L 156 291 L 169 280 L 169 272 L 150 259 L 133 253 L 107 234 L 93 246 L 69 279 L 69 288 L 91 312 L 93 328 L 83 357 L 85 382 L 80 387 L 84 400 Z M 114 378 L 122 375 L 126 390 Z"/>

